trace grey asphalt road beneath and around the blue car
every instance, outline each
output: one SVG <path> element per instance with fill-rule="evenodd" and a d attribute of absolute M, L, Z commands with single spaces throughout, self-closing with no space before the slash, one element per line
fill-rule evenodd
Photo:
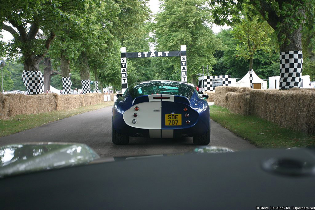
<path fill-rule="evenodd" d="M 109 106 L 1 137 L 0 145 L 21 142 L 77 142 L 89 145 L 101 157 L 184 153 L 191 152 L 196 147 L 192 144 L 192 138 L 175 140 L 131 137 L 129 145 L 113 145 L 111 126 L 112 106 Z M 255 148 L 212 120 L 209 145 L 233 150 Z"/>

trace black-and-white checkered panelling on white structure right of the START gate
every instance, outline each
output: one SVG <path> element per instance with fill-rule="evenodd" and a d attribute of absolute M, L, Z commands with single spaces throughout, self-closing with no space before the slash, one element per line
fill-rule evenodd
<path fill-rule="evenodd" d="M 221 79 L 223 86 L 229 86 L 231 85 L 231 75 L 214 75 L 214 76 L 203 76 L 203 77 L 198 77 L 199 81 L 199 90 L 203 92 L 207 91 L 215 91 L 213 87 L 213 82 L 214 79 Z"/>

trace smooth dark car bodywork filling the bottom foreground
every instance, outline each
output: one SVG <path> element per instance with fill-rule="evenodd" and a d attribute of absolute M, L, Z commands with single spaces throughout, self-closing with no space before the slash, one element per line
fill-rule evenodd
<path fill-rule="evenodd" d="M 3 209 L 313 209 L 314 166 L 307 148 L 141 158 L 0 179 L 0 200 Z"/>

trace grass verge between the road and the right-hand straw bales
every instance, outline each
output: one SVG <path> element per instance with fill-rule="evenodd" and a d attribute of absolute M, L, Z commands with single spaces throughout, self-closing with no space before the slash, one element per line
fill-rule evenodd
<path fill-rule="evenodd" d="M 315 135 L 280 128 L 256 116 L 234 114 L 221 106 L 210 106 L 210 117 L 257 147 L 315 146 Z"/>

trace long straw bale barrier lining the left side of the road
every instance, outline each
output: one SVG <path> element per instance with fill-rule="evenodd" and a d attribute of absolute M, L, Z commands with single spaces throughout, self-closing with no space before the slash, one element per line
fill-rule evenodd
<path fill-rule="evenodd" d="M 0 94 L 0 119 L 21 115 L 39 114 L 54 110 L 71 110 L 81 106 L 104 103 L 105 94 Z M 111 95 L 113 97 L 115 94 Z"/>

